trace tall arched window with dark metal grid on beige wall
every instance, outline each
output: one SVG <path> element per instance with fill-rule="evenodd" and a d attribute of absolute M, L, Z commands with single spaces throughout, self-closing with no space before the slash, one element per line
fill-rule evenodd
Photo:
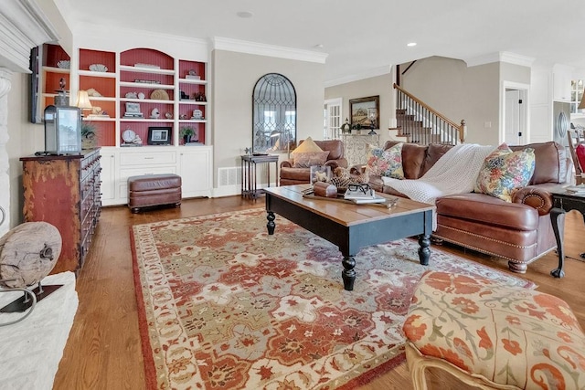
<path fill-rule="evenodd" d="M 262 76 L 252 94 L 252 152 L 290 152 L 296 145 L 296 91 L 278 73 Z"/>

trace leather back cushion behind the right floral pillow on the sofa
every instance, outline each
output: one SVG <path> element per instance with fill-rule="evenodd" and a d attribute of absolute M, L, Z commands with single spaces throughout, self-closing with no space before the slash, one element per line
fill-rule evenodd
<path fill-rule="evenodd" d="M 529 185 L 542 183 L 563 183 L 567 175 L 567 151 L 557 142 L 538 142 L 510 146 L 513 151 L 534 149 L 535 168 Z"/>

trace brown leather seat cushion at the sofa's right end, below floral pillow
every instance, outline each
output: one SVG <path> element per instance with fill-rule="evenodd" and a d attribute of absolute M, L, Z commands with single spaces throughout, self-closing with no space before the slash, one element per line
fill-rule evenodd
<path fill-rule="evenodd" d="M 470 193 L 442 196 L 437 199 L 436 206 L 438 215 L 471 218 L 478 224 L 526 231 L 538 227 L 538 211 L 535 208 L 502 202 L 490 195 Z"/>

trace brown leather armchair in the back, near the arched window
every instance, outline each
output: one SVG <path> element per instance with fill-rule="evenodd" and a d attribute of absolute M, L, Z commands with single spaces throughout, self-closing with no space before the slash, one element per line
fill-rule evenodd
<path fill-rule="evenodd" d="M 301 144 L 303 141 L 299 142 Z M 329 157 L 325 165 L 331 166 L 331 171 L 338 166 L 347 167 L 347 160 L 344 157 L 344 143 L 339 140 L 314 141 L 324 151 L 329 151 Z M 294 168 L 293 160 L 281 162 L 280 185 L 292 185 L 310 183 L 311 168 Z"/>

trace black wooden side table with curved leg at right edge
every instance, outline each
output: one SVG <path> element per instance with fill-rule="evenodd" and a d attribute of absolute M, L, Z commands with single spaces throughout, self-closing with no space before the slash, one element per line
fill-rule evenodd
<path fill-rule="evenodd" d="M 558 268 L 550 271 L 555 278 L 565 276 L 563 266 L 565 264 L 565 251 L 563 248 L 563 237 L 565 235 L 565 213 L 570 210 L 577 210 L 585 219 L 585 195 L 568 194 L 564 189 L 552 193 L 553 208 L 550 210 L 550 222 L 557 240 Z"/>

